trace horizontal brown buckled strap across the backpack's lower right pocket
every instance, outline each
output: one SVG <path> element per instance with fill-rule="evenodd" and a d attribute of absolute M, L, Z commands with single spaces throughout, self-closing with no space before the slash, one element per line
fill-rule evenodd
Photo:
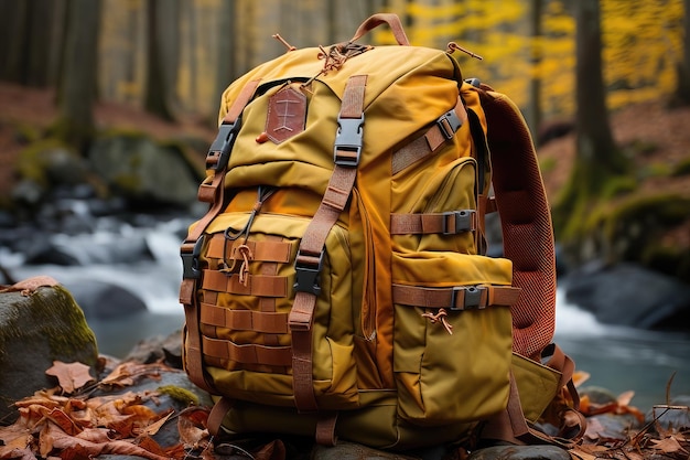
<path fill-rule="evenodd" d="M 509 307 L 517 301 L 519 295 L 520 289 L 510 286 L 460 286 L 453 288 L 392 286 L 395 303 L 451 310 L 483 309 L 490 306 Z"/>

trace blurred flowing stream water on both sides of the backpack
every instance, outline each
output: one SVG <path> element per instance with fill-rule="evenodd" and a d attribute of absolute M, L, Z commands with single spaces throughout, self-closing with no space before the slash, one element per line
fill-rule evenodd
<path fill-rule="evenodd" d="M 182 276 L 179 247 L 181 232 L 188 223 L 188 218 L 172 218 L 149 228 L 125 226 L 117 232 L 56 235 L 66 248 L 117 246 L 139 238 L 152 255 L 145 260 L 108 264 L 94 253 L 80 250 L 85 265 L 28 266 L 21 255 L 0 248 L 0 265 L 18 279 L 51 275 L 67 286 L 74 280 L 95 279 L 122 286 L 139 296 L 148 311 L 88 320 L 99 351 L 123 356 L 141 340 L 168 335 L 183 325 L 183 310 L 177 302 Z M 616 395 L 634 391 L 632 404 L 643 410 L 666 403 L 671 378 L 671 396 L 690 395 L 690 334 L 604 325 L 562 298 L 559 291 L 556 342 L 575 360 L 578 370 L 591 375 L 584 385 L 601 386 Z"/>

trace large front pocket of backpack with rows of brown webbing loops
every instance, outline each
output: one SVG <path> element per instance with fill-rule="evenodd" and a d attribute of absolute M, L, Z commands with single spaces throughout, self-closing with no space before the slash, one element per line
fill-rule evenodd
<path fill-rule="evenodd" d="M 294 301 L 294 258 L 310 220 L 262 213 L 246 227 L 248 216 L 226 213 L 207 229 L 200 292 L 204 361 L 216 388 L 229 397 L 292 406 L 288 315 Z M 312 375 L 323 408 L 357 404 L 347 240 L 347 232 L 335 225 L 319 274 Z"/>

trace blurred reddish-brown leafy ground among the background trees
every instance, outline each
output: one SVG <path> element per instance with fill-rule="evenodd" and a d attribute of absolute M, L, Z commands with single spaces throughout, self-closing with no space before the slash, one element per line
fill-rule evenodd
<path fill-rule="evenodd" d="M 14 184 L 13 164 L 26 145 L 28 133 L 44 132 L 55 120 L 57 109 L 53 92 L 6 83 L 0 83 L 0 195 L 4 195 Z M 216 135 L 209 119 L 190 115 L 179 122 L 166 122 L 125 104 L 100 103 L 95 116 L 99 128 L 136 129 L 159 139 L 184 135 L 211 143 Z M 675 193 L 690 197 L 690 174 L 665 173 L 690 157 L 690 107 L 669 109 L 662 101 L 632 105 L 612 113 L 611 126 L 617 145 L 635 164 L 636 194 Z M 574 153 L 573 132 L 538 149 L 551 202 L 568 180 Z M 690 247 L 690 220 L 670 237 Z"/>

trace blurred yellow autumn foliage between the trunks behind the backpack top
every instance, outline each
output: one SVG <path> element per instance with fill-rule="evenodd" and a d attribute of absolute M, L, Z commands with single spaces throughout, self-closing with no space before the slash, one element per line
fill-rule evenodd
<path fill-rule="evenodd" d="M 227 30 L 220 21 L 227 13 L 224 4 L 220 0 L 183 3 L 176 97 L 186 110 L 215 113 L 219 66 L 229 65 L 239 76 L 284 52 L 271 39 L 273 33 L 298 47 L 325 46 L 347 40 L 374 12 L 368 0 L 352 0 L 348 8 L 335 0 L 240 0 L 234 7 L 233 30 Z M 386 4 L 387 11 L 401 17 L 413 45 L 445 49 L 454 41 L 483 56 L 478 61 L 457 54 L 466 77 L 478 77 L 508 93 L 521 107 L 529 103 L 530 79 L 538 78 L 543 117 L 573 114 L 576 24 L 563 0 L 542 0 L 539 36 L 530 36 L 529 0 L 389 0 Z M 142 99 L 144 10 L 141 0 L 104 2 L 107 19 L 99 65 L 100 95 L 106 99 Z M 682 54 L 682 0 L 601 0 L 601 13 L 608 108 L 669 96 Z M 219 44 L 230 39 L 231 52 L 219 58 Z M 364 40 L 395 44 L 385 26 Z"/>

